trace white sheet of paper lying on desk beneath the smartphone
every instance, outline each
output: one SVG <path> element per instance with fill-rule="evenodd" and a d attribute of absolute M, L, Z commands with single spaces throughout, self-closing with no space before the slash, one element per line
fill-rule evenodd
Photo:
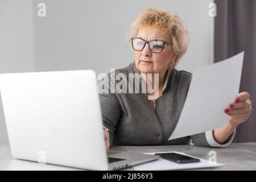
<path fill-rule="evenodd" d="M 161 153 L 161 152 L 159 152 Z M 165 152 L 168 153 L 168 152 Z M 183 155 L 187 155 L 181 152 L 175 152 L 177 154 L 183 154 Z M 156 153 L 146 153 L 146 154 L 158 154 L 158 152 Z M 187 155 L 187 156 L 191 156 L 191 155 Z M 192 156 L 193 158 L 195 158 L 195 156 Z M 158 160 L 154 160 L 152 162 L 148 162 L 148 163 L 144 163 L 144 164 L 139 164 L 137 166 L 134 166 L 133 168 L 137 171 L 156 171 L 156 170 L 177 170 L 177 169 L 193 169 L 193 168 L 206 168 L 206 167 L 219 167 L 219 166 L 224 166 L 224 164 L 220 164 L 220 163 L 215 163 L 212 161 L 208 161 L 205 159 L 201 159 L 201 158 L 197 158 L 200 159 L 200 162 L 198 163 L 186 163 L 186 164 L 178 164 L 178 163 L 174 163 L 171 162 L 170 160 L 166 160 L 166 159 L 158 159 Z"/>

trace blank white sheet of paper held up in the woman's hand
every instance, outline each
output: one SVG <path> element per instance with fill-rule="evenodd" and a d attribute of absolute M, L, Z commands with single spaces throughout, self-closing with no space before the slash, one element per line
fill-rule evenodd
<path fill-rule="evenodd" d="M 193 69 L 183 110 L 168 140 L 214 130 L 228 123 L 230 116 L 224 110 L 239 92 L 243 53 Z"/>

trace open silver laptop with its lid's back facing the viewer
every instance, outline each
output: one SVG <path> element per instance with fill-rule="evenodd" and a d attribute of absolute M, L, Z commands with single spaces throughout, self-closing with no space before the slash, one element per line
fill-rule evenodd
<path fill-rule="evenodd" d="M 0 74 L 11 154 L 82 169 L 121 169 L 159 156 L 106 153 L 91 70 Z"/>

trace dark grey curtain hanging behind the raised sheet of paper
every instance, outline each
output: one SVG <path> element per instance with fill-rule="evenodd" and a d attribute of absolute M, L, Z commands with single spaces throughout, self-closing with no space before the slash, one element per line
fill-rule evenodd
<path fill-rule="evenodd" d="M 237 127 L 233 142 L 256 142 L 256 2 L 217 0 L 214 19 L 214 62 L 245 51 L 240 92 L 250 93 L 253 113 Z"/>

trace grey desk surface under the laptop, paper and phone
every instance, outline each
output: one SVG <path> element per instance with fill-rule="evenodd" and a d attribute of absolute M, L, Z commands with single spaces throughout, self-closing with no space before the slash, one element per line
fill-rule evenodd
<path fill-rule="evenodd" d="M 193 145 L 180 146 L 115 146 L 115 151 L 166 152 L 179 151 L 203 159 L 210 158 L 210 151 L 216 151 L 217 162 L 223 167 L 204 168 L 210 170 L 256 170 L 256 143 L 232 143 L 225 148 L 207 148 Z M 133 168 L 127 168 L 133 170 Z M 200 169 L 200 170 L 204 170 Z M 9 146 L 0 146 L 0 170 L 76 170 L 75 168 L 42 165 L 35 162 L 16 160 L 11 157 Z"/>

